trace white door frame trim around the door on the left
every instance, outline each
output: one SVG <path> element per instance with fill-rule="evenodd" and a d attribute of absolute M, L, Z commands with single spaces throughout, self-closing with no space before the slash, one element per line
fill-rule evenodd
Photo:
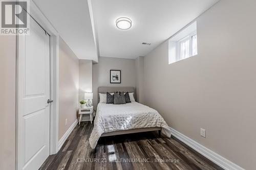
<path fill-rule="evenodd" d="M 58 117 L 59 117 L 59 34 L 51 22 L 40 11 L 35 3 L 30 1 L 29 15 L 50 35 L 50 155 L 58 152 Z M 19 36 L 16 36 L 16 163 L 15 169 L 19 170 L 18 148 L 18 56 Z"/>

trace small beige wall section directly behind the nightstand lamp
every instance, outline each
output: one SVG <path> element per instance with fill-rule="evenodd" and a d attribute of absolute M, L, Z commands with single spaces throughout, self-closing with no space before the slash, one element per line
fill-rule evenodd
<path fill-rule="evenodd" d="M 92 92 L 92 60 L 79 60 L 79 101 L 84 99 L 84 92 Z"/>

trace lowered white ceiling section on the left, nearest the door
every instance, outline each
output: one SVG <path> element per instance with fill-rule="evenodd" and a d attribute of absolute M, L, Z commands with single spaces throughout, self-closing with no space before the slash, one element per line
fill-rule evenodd
<path fill-rule="evenodd" d="M 33 1 L 79 59 L 98 62 L 97 38 L 93 34 L 93 19 L 89 10 L 90 0 Z"/>

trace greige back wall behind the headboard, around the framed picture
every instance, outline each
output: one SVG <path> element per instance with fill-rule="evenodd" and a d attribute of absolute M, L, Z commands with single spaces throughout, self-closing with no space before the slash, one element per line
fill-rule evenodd
<path fill-rule="evenodd" d="M 110 70 L 121 70 L 121 84 L 110 83 Z M 111 57 L 99 57 L 99 63 L 93 64 L 93 105 L 98 104 L 99 86 L 133 86 L 135 87 L 135 60 Z"/>

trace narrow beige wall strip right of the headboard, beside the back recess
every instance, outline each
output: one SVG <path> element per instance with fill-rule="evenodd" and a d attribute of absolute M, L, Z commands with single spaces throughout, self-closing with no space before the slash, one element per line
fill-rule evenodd
<path fill-rule="evenodd" d="M 135 59 L 136 68 L 136 101 L 143 103 L 144 89 L 144 57 L 140 56 Z"/>

